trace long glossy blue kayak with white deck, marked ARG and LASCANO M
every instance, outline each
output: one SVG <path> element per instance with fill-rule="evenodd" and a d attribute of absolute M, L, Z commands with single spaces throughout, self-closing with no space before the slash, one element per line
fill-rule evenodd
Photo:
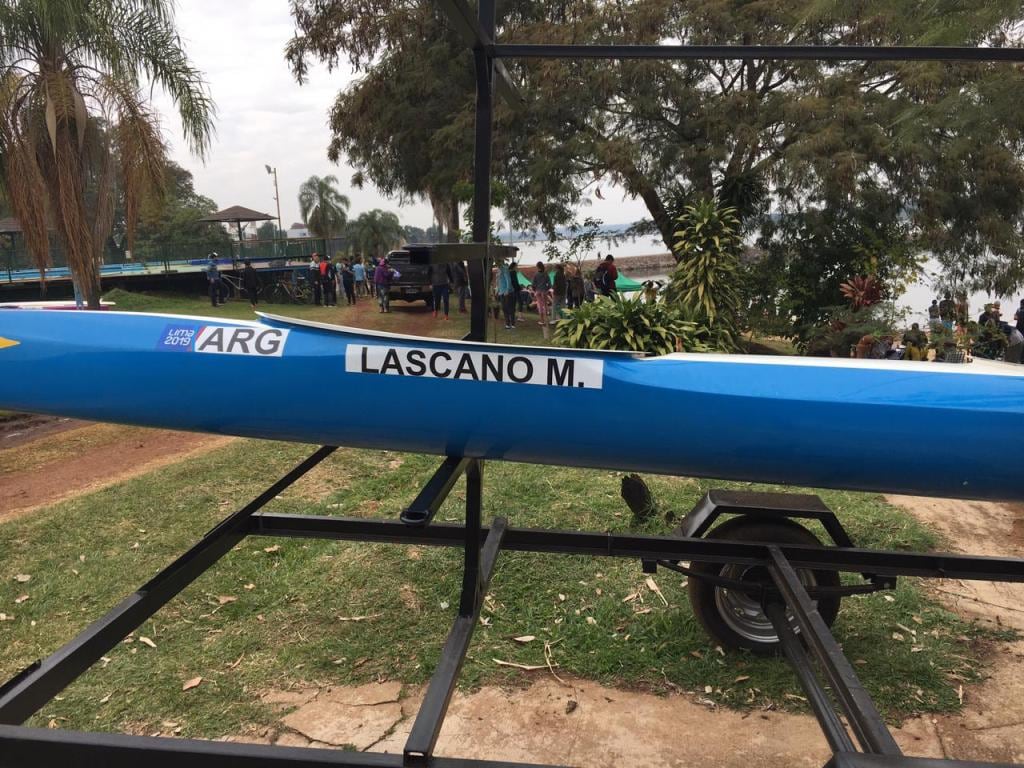
<path fill-rule="evenodd" d="M 0 409 L 514 462 L 1024 499 L 1024 367 L 981 360 L 639 357 L 273 315 L 11 310 L 0 312 Z"/>

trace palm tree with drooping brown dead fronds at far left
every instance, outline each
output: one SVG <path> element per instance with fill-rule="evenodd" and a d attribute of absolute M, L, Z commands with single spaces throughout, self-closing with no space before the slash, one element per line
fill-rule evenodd
<path fill-rule="evenodd" d="M 131 248 L 143 202 L 159 196 L 165 146 L 144 83 L 163 88 L 193 152 L 213 102 L 174 27 L 171 0 L 8 0 L 0 4 L 0 156 L 26 244 L 47 266 L 52 225 L 90 307 L 99 256 L 124 196 Z"/>

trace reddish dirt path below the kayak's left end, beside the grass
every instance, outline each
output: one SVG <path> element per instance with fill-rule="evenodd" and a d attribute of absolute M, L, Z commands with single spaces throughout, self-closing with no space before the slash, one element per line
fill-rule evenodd
<path fill-rule="evenodd" d="M 0 447 L 0 521 L 212 451 L 232 438 L 115 424 L 47 423 Z M 3 443 L 0 443 L 3 445 Z"/>

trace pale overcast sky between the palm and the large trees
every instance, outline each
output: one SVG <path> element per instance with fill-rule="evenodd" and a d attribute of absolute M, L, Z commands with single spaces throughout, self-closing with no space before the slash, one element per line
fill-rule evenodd
<path fill-rule="evenodd" d="M 376 188 L 349 186 L 352 169 L 327 159 L 331 132 L 328 111 L 339 90 L 351 81 L 346 71 L 314 68 L 309 81 L 296 84 L 285 62 L 285 44 L 293 33 L 287 0 L 178 0 L 178 30 L 194 63 L 207 77 L 217 104 L 217 135 L 204 165 L 181 138 L 181 126 L 164 94 L 155 96 L 164 116 L 171 157 L 196 177 L 196 188 L 221 208 L 242 205 L 275 215 L 273 180 L 264 165 L 278 168 L 281 217 L 287 229 L 299 221 L 299 184 L 315 174 L 334 174 L 352 201 L 350 216 L 373 208 L 392 210 L 403 224 L 429 226 L 429 206 L 399 208 Z M 603 190 L 582 215 L 607 223 L 631 222 L 646 215 L 642 204 L 624 201 L 621 191 Z"/>

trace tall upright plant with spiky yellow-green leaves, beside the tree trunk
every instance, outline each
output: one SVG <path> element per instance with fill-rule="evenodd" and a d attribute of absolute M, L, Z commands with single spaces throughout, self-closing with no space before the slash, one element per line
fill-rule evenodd
<path fill-rule="evenodd" d="M 686 206 L 677 219 L 673 252 L 679 262 L 666 298 L 734 345 L 739 315 L 739 219 L 714 200 Z"/>

